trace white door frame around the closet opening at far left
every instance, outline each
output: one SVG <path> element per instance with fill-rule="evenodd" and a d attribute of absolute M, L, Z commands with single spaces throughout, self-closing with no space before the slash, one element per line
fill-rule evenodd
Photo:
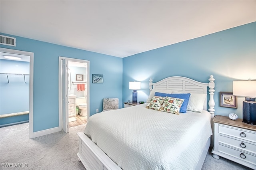
<path fill-rule="evenodd" d="M 33 127 L 33 77 L 34 77 L 34 53 L 28 51 L 20 51 L 16 49 L 8 49 L 0 47 L 0 51 L 4 53 L 20 54 L 30 56 L 29 62 L 29 138 L 34 138 Z"/>

